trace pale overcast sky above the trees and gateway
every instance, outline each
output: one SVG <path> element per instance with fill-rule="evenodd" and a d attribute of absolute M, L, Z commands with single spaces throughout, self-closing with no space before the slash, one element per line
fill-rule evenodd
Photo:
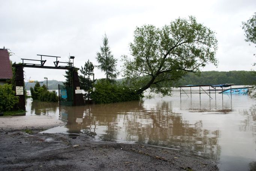
<path fill-rule="evenodd" d="M 216 32 L 218 67 L 206 65 L 203 71 L 251 70 L 256 61 L 254 45 L 245 42 L 242 21 L 256 12 L 255 0 L 0 0 L 0 48 L 5 46 L 21 58 L 39 59 L 37 54 L 75 56 L 74 66 L 89 59 L 97 65 L 96 52 L 106 33 L 118 70 L 121 55 L 130 56 L 136 26 L 169 24 L 176 18 L 193 15 L 197 22 Z M 53 66 L 53 58 L 45 58 Z M 65 80 L 65 70 L 24 68 L 26 79 Z M 95 78 L 104 73 L 95 69 Z M 119 76 L 121 78 L 122 76 Z M 25 79 L 25 81 L 26 81 Z"/>

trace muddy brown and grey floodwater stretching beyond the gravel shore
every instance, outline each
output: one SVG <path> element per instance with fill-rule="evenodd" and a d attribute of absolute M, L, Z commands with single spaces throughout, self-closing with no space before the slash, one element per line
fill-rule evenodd
<path fill-rule="evenodd" d="M 198 92 L 193 88 L 193 92 Z M 187 89 L 188 90 L 188 89 Z M 256 170 L 256 103 L 248 95 L 155 96 L 76 107 L 27 99 L 27 115 L 48 114 L 66 126 L 45 132 L 95 135 L 97 140 L 189 150 L 219 162 L 221 171 Z"/>

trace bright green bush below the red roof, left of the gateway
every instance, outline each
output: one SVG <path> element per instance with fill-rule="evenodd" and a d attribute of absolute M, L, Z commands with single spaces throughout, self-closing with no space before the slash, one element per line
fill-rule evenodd
<path fill-rule="evenodd" d="M 11 84 L 0 85 L 0 111 L 9 111 L 19 102 Z"/>

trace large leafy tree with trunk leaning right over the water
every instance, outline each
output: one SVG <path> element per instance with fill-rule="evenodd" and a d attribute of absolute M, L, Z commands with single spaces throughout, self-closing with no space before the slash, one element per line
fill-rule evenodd
<path fill-rule="evenodd" d="M 130 51 L 132 58 L 123 56 L 123 73 L 138 94 L 150 88 L 170 95 L 171 86 L 188 72 L 200 71 L 208 63 L 217 65 L 215 33 L 193 16 L 162 28 L 137 27 Z"/>

